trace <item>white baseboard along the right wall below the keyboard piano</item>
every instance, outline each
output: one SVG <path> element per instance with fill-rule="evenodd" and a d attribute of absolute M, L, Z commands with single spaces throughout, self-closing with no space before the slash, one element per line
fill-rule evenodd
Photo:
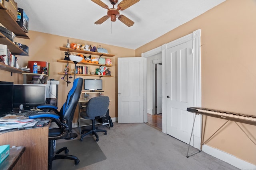
<path fill-rule="evenodd" d="M 244 160 L 241 160 L 234 155 L 223 152 L 222 150 L 218 150 L 216 148 L 209 147 L 207 145 L 203 145 L 202 151 L 204 151 L 207 154 L 210 154 L 220 160 L 223 160 L 224 162 L 227 162 L 241 170 L 256 170 L 256 165 L 246 162 Z M 200 154 L 200 153 L 198 153 L 198 154 Z"/>

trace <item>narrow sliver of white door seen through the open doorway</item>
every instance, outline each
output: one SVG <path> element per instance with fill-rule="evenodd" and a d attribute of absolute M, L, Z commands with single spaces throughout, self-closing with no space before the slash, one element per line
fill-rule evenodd
<path fill-rule="evenodd" d="M 156 64 L 156 114 L 162 113 L 162 64 Z"/>

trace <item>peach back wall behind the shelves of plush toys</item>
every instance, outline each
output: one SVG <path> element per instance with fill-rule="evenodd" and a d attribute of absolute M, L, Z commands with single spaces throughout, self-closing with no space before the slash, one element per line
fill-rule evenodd
<path fill-rule="evenodd" d="M 110 101 L 110 116 L 111 117 L 118 117 L 117 113 L 117 100 L 116 100 L 116 92 L 117 92 L 117 57 L 134 57 L 135 50 L 133 49 L 126 49 L 122 47 L 116 47 L 112 45 L 100 44 L 96 42 L 84 41 L 80 39 L 73 39 L 69 37 L 62 37 L 58 35 L 51 35 L 47 33 L 41 33 L 36 31 L 29 31 L 30 39 L 20 39 L 16 38 L 15 41 L 26 44 L 29 47 L 29 57 L 28 56 L 17 56 L 18 57 L 18 64 L 20 67 L 24 67 L 28 65 L 28 61 L 47 61 L 50 63 L 50 78 L 54 78 L 55 80 L 60 81 L 59 85 L 59 92 L 58 92 L 58 106 L 61 107 L 63 103 L 66 101 L 66 96 L 68 91 L 72 87 L 72 83 L 67 86 L 66 82 L 61 79 L 63 77 L 62 74 L 58 74 L 58 72 L 64 72 L 64 65 L 65 63 L 58 63 L 57 59 L 64 59 L 64 51 L 60 51 L 59 47 L 65 47 L 67 43 L 67 39 L 69 39 L 70 43 L 81 43 L 81 44 L 88 44 L 88 45 L 95 45 L 98 47 L 101 45 L 102 48 L 106 48 L 108 53 L 114 54 L 114 57 L 111 57 L 113 66 L 110 67 L 111 75 L 114 77 L 102 77 L 103 80 L 103 88 L 105 90 L 104 95 L 109 96 L 112 100 Z M 88 56 L 88 55 L 86 55 Z M 96 57 L 96 56 L 94 56 Z M 74 69 L 74 64 L 70 64 L 70 68 Z M 95 71 L 98 66 L 89 66 L 90 71 Z M 6 72 L 0 70 L 1 81 L 12 81 L 15 84 L 22 84 L 23 77 L 21 74 L 13 73 L 13 76 L 10 76 L 10 72 Z M 76 77 L 82 78 L 96 78 L 99 77 L 92 77 L 92 76 L 78 76 Z M 70 80 L 70 79 L 69 79 Z M 72 79 L 70 80 L 72 82 Z M 83 87 L 84 88 L 84 87 Z M 60 108 L 59 108 L 60 109 Z M 74 116 L 74 123 L 77 122 L 78 117 L 78 107 L 77 111 Z"/>

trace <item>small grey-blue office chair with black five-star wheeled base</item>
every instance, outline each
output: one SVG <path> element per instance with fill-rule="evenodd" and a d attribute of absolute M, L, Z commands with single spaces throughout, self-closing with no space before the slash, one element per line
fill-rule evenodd
<path fill-rule="evenodd" d="M 92 129 L 83 129 L 82 135 L 80 138 L 80 141 L 83 141 L 83 137 L 88 134 L 93 134 L 96 136 L 96 141 L 99 141 L 99 136 L 97 132 L 105 132 L 104 135 L 107 134 L 106 130 L 102 129 L 96 129 L 95 128 L 95 121 L 96 119 L 100 119 L 101 117 L 104 117 L 108 111 L 108 105 L 109 105 L 109 98 L 108 96 L 101 96 L 101 97 L 94 97 L 91 98 L 88 101 L 88 104 L 86 105 L 86 111 L 82 111 L 80 113 L 80 116 L 82 116 L 84 119 L 90 119 L 92 120 Z M 87 133 L 83 134 L 84 131 L 87 131 Z"/>

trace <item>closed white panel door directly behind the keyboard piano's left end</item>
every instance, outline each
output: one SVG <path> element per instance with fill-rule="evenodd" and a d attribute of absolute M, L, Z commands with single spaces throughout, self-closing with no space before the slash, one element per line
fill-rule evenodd
<path fill-rule="evenodd" d="M 192 40 L 167 49 L 167 134 L 189 143 L 193 114 Z"/>

